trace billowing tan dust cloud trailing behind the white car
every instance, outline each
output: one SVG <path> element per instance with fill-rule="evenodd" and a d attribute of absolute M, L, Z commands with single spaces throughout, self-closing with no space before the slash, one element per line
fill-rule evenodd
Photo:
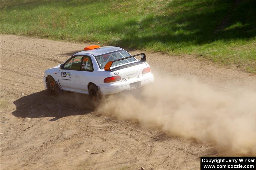
<path fill-rule="evenodd" d="M 109 96 L 97 112 L 216 145 L 219 151 L 255 155 L 255 91 L 218 91 L 196 79 L 158 77 L 144 88 Z"/>

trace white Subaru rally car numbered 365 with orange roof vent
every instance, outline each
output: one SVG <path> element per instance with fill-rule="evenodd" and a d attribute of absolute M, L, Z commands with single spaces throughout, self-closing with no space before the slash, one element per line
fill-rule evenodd
<path fill-rule="evenodd" d="M 141 59 L 136 59 L 141 57 Z M 154 81 L 144 53 L 131 55 L 114 46 L 87 46 L 64 64 L 45 71 L 43 81 L 51 94 L 58 90 L 101 95 L 133 90 Z"/>

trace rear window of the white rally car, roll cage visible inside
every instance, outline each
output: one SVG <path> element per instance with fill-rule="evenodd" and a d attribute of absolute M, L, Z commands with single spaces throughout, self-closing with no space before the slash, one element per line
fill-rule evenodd
<path fill-rule="evenodd" d="M 111 53 L 104 54 L 104 55 L 98 55 L 95 58 L 98 61 L 100 68 L 102 69 L 109 61 L 114 61 L 114 60 L 118 60 L 118 59 L 125 58 L 125 57 L 130 57 L 130 56 L 131 55 L 128 52 L 126 52 L 124 50 L 120 50 L 120 51 L 111 52 Z M 128 58 L 125 60 L 116 61 L 112 64 L 112 66 L 129 63 L 129 62 L 135 61 L 135 60 L 136 60 L 135 58 Z"/>

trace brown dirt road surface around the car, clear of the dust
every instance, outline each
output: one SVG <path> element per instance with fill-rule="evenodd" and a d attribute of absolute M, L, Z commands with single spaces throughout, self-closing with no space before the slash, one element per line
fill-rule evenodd
<path fill-rule="evenodd" d="M 2 170 L 199 169 L 200 156 L 227 155 L 214 142 L 174 136 L 134 119 L 92 111 L 84 95 L 48 95 L 44 71 L 85 44 L 14 35 L 1 35 L 0 40 Z M 218 68 L 192 56 L 146 55 L 158 75 L 194 77 L 218 91 L 247 89 L 255 94 L 254 74 Z"/>

